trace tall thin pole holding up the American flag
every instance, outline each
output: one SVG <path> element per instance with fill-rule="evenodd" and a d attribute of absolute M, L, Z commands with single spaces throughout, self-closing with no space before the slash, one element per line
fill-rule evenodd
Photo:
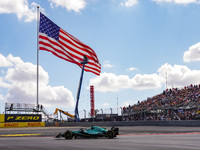
<path fill-rule="evenodd" d="M 39 110 L 39 17 L 39 6 L 37 6 L 37 111 Z"/>

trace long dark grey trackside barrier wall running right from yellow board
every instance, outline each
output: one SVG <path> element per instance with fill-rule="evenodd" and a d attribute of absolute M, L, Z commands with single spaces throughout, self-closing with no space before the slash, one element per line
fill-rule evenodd
<path fill-rule="evenodd" d="M 114 122 L 46 122 L 45 126 L 180 126 L 180 127 L 200 127 L 200 120 L 176 120 L 176 121 L 114 121 Z"/>

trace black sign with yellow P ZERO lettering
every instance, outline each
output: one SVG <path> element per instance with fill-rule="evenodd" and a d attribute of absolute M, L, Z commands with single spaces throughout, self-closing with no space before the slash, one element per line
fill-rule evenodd
<path fill-rule="evenodd" d="M 6 114 L 5 122 L 41 122 L 41 115 Z"/>

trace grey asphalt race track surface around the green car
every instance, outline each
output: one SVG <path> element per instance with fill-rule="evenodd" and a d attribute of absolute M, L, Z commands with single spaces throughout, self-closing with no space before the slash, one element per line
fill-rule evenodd
<path fill-rule="evenodd" d="M 80 127 L 38 127 L 0 129 L 0 150 L 197 150 L 200 149 L 199 127 L 119 127 L 115 139 L 54 139 L 58 132 Z M 110 128 L 110 127 L 107 127 Z M 38 134 L 17 136 L 17 134 Z M 12 136 L 15 135 L 15 136 Z"/>

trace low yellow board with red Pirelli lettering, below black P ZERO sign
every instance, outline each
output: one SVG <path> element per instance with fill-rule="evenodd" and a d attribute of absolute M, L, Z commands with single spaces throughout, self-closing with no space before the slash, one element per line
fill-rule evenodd
<path fill-rule="evenodd" d="M 15 128 L 15 127 L 45 127 L 45 122 L 0 123 L 0 128 Z"/>

